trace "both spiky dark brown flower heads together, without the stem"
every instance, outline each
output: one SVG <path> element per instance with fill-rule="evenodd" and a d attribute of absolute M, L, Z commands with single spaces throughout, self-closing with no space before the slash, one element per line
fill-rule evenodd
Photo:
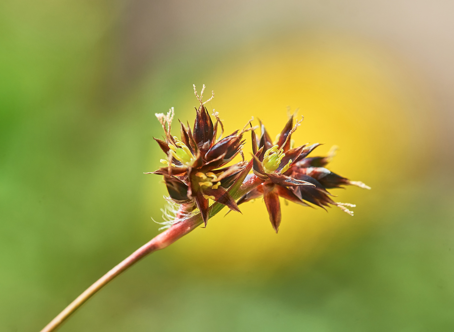
<path fill-rule="evenodd" d="M 298 128 L 302 120 L 293 125 L 295 115 L 291 115 L 281 134 L 274 142 L 266 132 L 265 126 L 260 123 L 261 135 L 255 134 L 257 127 L 252 127 L 251 121 L 242 130 L 236 130 L 231 135 L 222 137 L 223 125 L 218 113 L 213 125 L 210 115 L 204 104 L 214 97 L 202 102 L 203 86 L 198 96 L 194 86 L 194 93 L 200 102 L 194 121 L 193 129 L 180 122 L 181 139 L 170 135 L 174 116 L 173 107 L 167 115 L 156 114 L 163 126 L 165 140 L 155 140 L 167 155 L 161 159 L 165 167 L 152 172 L 164 176 L 169 199 L 184 207 L 184 213 L 198 208 L 202 220 L 207 224 L 209 200 L 221 203 L 230 210 L 240 212 L 238 205 L 263 197 L 268 210 L 271 225 L 277 232 L 281 223 L 281 207 L 279 197 L 303 206 L 309 203 L 325 208 L 334 205 L 353 215 L 347 207 L 355 207 L 349 203 L 334 202 L 326 189 L 339 188 L 342 185 L 356 185 L 370 189 L 359 181 L 350 181 L 324 168 L 334 155 L 334 150 L 325 157 L 307 157 L 319 143 L 293 147 L 292 133 Z M 219 137 L 217 136 L 220 127 Z M 242 135 L 246 131 L 252 132 L 253 173 L 247 175 L 242 182 L 239 192 L 243 195 L 237 202 L 229 193 L 229 188 L 246 168 L 247 162 L 241 151 L 245 140 Z M 240 153 L 242 161 L 226 166 L 227 163 Z M 249 166 L 250 167 L 250 166 Z M 245 171 L 247 173 L 247 170 Z M 241 179 L 238 179 L 240 183 Z M 239 197 L 239 196 L 238 196 Z"/>

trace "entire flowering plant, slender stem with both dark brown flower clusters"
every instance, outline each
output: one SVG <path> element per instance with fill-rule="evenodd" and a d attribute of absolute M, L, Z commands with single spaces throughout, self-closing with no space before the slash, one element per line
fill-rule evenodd
<path fill-rule="evenodd" d="M 289 116 L 284 129 L 271 141 L 265 126 L 260 122 L 252 126 L 252 120 L 241 130 L 222 138 L 224 127 L 217 112 L 212 118 L 194 86 L 194 94 L 200 103 L 196 108 L 196 119 L 192 127 L 180 122 L 180 139 L 171 135 L 174 117 L 173 107 L 167 114 L 156 114 L 164 130 L 164 140 L 154 139 L 165 154 L 161 159 L 163 167 L 146 174 L 163 176 L 168 190 L 169 208 L 162 210 L 166 231 L 158 234 L 148 243 L 134 251 L 120 264 L 101 277 L 78 298 L 69 304 L 41 332 L 54 331 L 66 318 L 74 313 L 99 289 L 104 287 L 118 274 L 128 269 L 148 255 L 163 249 L 188 234 L 202 223 L 207 226 L 208 219 L 215 216 L 224 207 L 230 211 L 240 212 L 238 205 L 263 197 L 269 214 L 271 226 L 276 231 L 281 224 L 281 207 L 279 197 L 302 206 L 316 205 L 326 209 L 333 205 L 353 216 L 347 207 L 355 207 L 350 203 L 334 202 L 327 189 L 339 188 L 343 185 L 355 185 L 370 189 L 360 181 L 350 181 L 325 168 L 335 153 L 335 149 L 327 156 L 309 157 L 319 143 L 303 144 L 294 147 L 291 135 L 301 120 L 294 124 L 296 112 Z M 260 128 L 260 136 L 255 131 Z M 218 134 L 219 131 L 219 134 Z M 242 146 L 245 144 L 243 135 L 251 131 L 252 156 L 249 161 L 244 159 Z M 240 154 L 242 161 L 229 163 Z M 250 173 L 252 170 L 252 173 Z M 213 202 L 210 205 L 210 200 Z M 227 212 L 228 213 L 228 212 Z"/>

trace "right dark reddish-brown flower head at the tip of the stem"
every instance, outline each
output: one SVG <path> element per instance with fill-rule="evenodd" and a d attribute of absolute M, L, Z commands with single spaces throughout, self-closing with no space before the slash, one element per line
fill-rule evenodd
<path fill-rule="evenodd" d="M 303 206 L 309 203 L 325 208 L 335 205 L 343 211 L 353 215 L 347 207 L 354 207 L 349 203 L 334 202 L 328 188 L 337 188 L 345 184 L 368 188 L 364 183 L 350 181 L 326 168 L 323 168 L 332 155 L 327 157 L 312 157 L 307 155 L 320 144 L 301 145 L 292 148 L 291 134 L 298 128 L 301 121 L 293 125 L 293 116 L 287 121 L 281 134 L 277 135 L 275 144 L 271 143 L 265 126 L 261 124 L 262 135 L 257 136 L 252 130 L 252 150 L 255 154 L 258 148 L 262 153 L 255 157 L 254 175 L 248 178 L 250 183 L 259 183 L 251 191 L 244 194 L 237 205 L 252 199 L 263 197 L 268 210 L 271 225 L 278 231 L 281 224 L 281 207 L 279 197 Z"/>

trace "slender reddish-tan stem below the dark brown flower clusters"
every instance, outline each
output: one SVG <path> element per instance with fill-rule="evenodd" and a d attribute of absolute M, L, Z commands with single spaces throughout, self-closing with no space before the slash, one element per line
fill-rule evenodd
<path fill-rule="evenodd" d="M 114 279 L 116 276 L 121 274 L 130 266 L 137 263 L 146 255 L 156 250 L 163 249 L 168 245 L 171 245 L 173 242 L 177 241 L 182 236 L 194 230 L 200 224 L 202 224 L 202 218 L 200 213 L 198 213 L 197 215 L 191 218 L 188 218 L 183 221 L 178 221 L 177 223 L 173 224 L 167 231 L 163 231 L 162 233 L 155 236 L 152 240 L 142 245 L 138 250 L 134 251 L 120 264 L 118 264 L 109 272 L 104 274 L 101 278 L 99 278 L 98 281 L 92 284 L 88 289 L 84 291 L 84 293 L 80 294 L 73 302 L 71 302 L 68 307 L 64 308 L 64 310 L 61 313 L 59 313 L 59 315 L 55 317 L 51 322 L 49 322 L 49 324 L 47 324 L 41 330 L 41 332 L 54 331 L 64 322 L 66 318 L 68 318 L 72 313 L 74 313 L 74 311 L 77 310 L 77 308 L 84 304 L 85 301 L 87 301 L 96 292 L 98 292 L 99 289 L 103 288 L 106 284 L 108 284 L 109 281 Z"/>

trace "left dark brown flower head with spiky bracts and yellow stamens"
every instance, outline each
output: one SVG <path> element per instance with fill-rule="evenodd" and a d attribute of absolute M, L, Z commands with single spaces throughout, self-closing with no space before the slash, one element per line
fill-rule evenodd
<path fill-rule="evenodd" d="M 242 135 L 250 129 L 245 126 L 243 130 L 236 130 L 231 135 L 221 139 L 223 126 L 218 116 L 215 116 L 216 122 L 213 125 L 212 119 L 204 106 L 207 101 L 202 101 L 202 87 L 200 96 L 198 96 L 196 87 L 194 93 L 200 102 L 196 108 L 196 119 L 193 129 L 189 124 L 185 126 L 180 122 L 181 138 L 172 136 L 172 120 L 174 110 L 171 108 L 167 115 L 156 114 L 164 130 L 164 140 L 154 139 L 158 142 L 167 159 L 161 159 L 161 163 L 166 166 L 152 172 L 163 175 L 166 183 L 169 197 L 178 204 L 186 204 L 200 209 L 205 224 L 208 221 L 208 200 L 226 205 L 230 209 L 240 212 L 237 203 L 227 192 L 232 185 L 246 162 L 243 161 L 229 167 L 224 167 L 230 162 L 241 150 L 244 144 Z M 250 121 L 247 125 L 249 125 Z M 221 134 L 218 138 L 217 130 L 221 127 Z"/>

